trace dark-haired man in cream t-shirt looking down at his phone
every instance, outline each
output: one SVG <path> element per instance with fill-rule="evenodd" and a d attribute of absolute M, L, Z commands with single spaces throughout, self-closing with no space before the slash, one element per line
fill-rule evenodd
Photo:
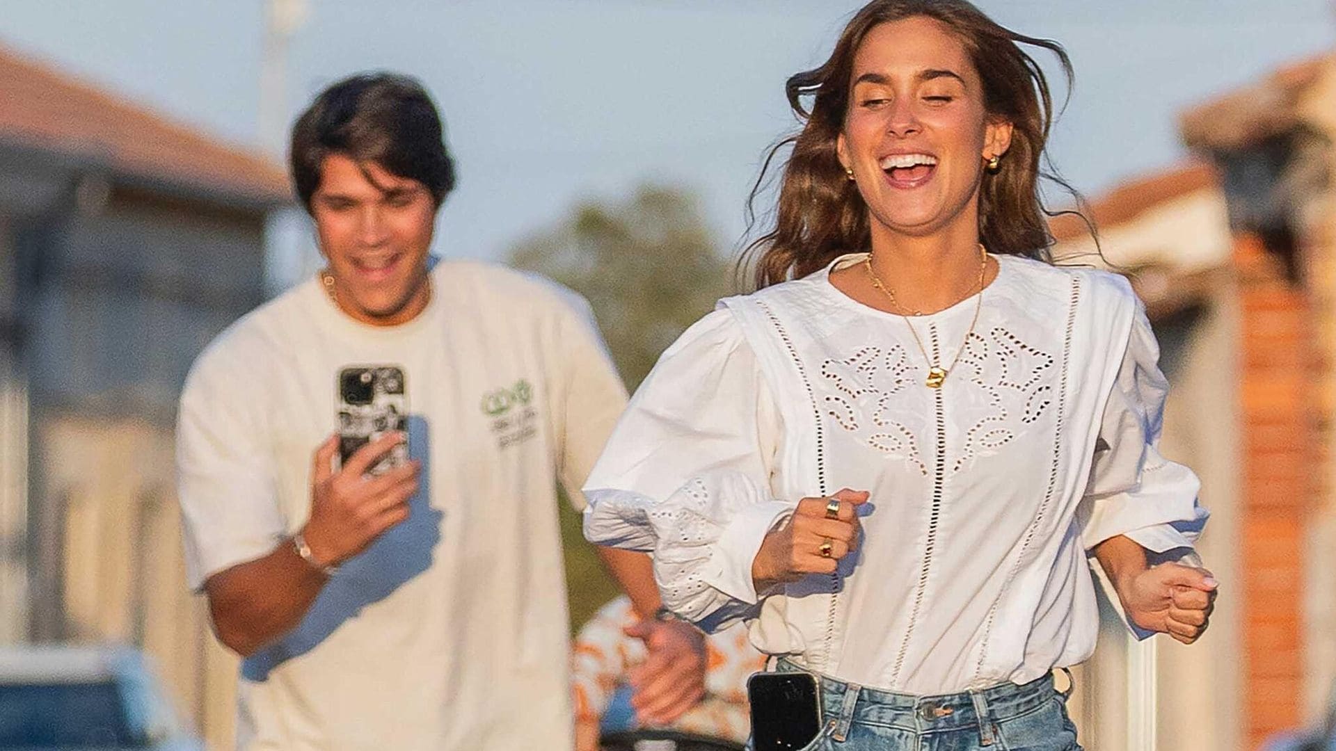
<path fill-rule="evenodd" d="M 582 505 L 625 402 L 588 307 L 428 254 L 454 168 L 411 79 L 322 92 L 291 171 L 327 266 L 207 347 L 178 428 L 190 583 L 244 657 L 238 743 L 569 747 L 554 480 Z M 338 461 L 350 366 L 393 374 L 406 430 Z M 405 441 L 410 460 L 381 470 Z M 603 555 L 653 613 L 648 559 Z M 644 640 L 636 706 L 667 722 L 703 691 L 703 644 L 657 620 Z"/>

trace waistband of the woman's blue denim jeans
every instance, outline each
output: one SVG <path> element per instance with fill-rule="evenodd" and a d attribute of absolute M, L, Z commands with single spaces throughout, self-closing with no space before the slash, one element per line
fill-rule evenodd
<path fill-rule="evenodd" d="M 775 669 L 811 672 L 784 657 L 778 660 Z M 978 691 L 925 696 L 867 688 L 820 673 L 812 675 L 816 675 L 820 687 L 826 724 L 834 728 L 832 735 L 836 739 L 843 739 L 851 723 L 918 732 L 979 727 L 983 736 L 990 739 L 994 723 L 1025 715 L 1054 698 L 1065 696 L 1054 688 L 1051 675 L 1026 684 L 1006 682 Z"/>

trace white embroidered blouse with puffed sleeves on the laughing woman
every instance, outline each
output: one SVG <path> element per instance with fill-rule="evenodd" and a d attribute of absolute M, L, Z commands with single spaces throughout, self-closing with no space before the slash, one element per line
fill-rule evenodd
<path fill-rule="evenodd" d="M 807 278 L 720 302 L 631 401 L 585 485 L 585 536 L 653 553 L 664 605 L 747 619 L 763 652 L 908 694 L 1025 683 L 1094 649 L 1092 547 L 1190 548 L 1197 477 L 1157 450 L 1166 384 L 1121 277 L 998 257 L 977 298 L 912 319 Z M 835 575 L 756 592 L 796 502 L 868 490 Z M 1093 559 L 1090 559 L 1093 563 Z M 1098 565 L 1098 564 L 1094 564 Z"/>

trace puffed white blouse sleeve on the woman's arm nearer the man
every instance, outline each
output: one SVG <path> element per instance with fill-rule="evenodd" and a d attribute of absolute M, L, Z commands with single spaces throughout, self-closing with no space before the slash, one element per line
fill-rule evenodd
<path fill-rule="evenodd" d="M 651 552 L 664 607 L 715 631 L 758 603 L 751 564 L 794 509 L 771 496 L 780 418 L 727 310 L 659 359 L 585 482 L 591 543 Z"/>

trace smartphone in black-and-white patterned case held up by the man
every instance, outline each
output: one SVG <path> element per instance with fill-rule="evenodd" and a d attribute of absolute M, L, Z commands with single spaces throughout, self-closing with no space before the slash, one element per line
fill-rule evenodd
<path fill-rule="evenodd" d="M 399 430 L 407 434 L 409 398 L 403 369 L 398 365 L 361 365 L 343 367 L 338 373 L 338 457 L 339 466 L 357 449 L 375 441 L 385 433 Z M 409 461 L 405 440 L 389 450 L 367 470 L 385 474 Z"/>

